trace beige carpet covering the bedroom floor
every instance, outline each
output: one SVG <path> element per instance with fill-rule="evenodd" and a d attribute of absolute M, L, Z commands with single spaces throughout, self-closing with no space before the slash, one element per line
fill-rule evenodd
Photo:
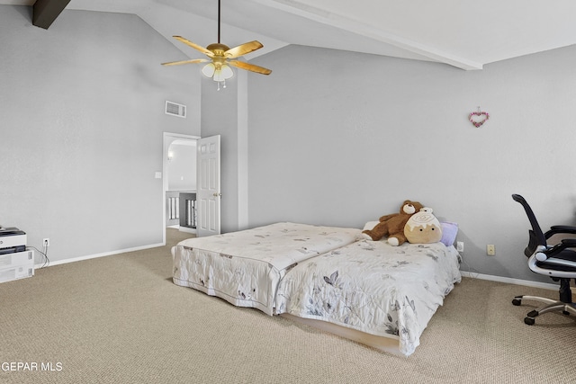
<path fill-rule="evenodd" d="M 526 326 L 535 306 L 511 304 L 553 290 L 464 278 L 405 358 L 176 286 L 169 249 L 185 237 L 0 284 L 0 382 L 575 382 L 576 317 Z"/>

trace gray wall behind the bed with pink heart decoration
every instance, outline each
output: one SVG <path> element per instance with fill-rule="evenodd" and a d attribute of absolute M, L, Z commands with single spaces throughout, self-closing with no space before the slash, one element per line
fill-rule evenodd
<path fill-rule="evenodd" d="M 575 61 L 576 47 L 473 72 L 300 46 L 258 58 L 274 72 L 250 78 L 250 226 L 362 228 L 417 200 L 459 223 L 464 270 L 550 282 L 527 269 L 510 195 L 543 226 L 575 223 Z"/>

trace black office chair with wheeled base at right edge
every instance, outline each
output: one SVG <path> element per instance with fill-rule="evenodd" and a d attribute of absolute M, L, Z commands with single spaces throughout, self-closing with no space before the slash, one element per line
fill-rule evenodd
<path fill-rule="evenodd" d="M 576 315 L 576 304 L 572 302 L 570 280 L 576 279 L 576 238 L 563 239 L 561 243 L 551 246 L 547 241 L 556 234 L 576 235 L 576 227 L 554 226 L 545 233 L 542 232 L 534 212 L 527 201 L 519 194 L 513 194 L 512 199 L 518 201 L 526 210 L 532 229 L 529 232 L 528 246 L 524 254 L 528 257 L 528 267 L 532 272 L 550 276 L 554 281 L 560 281 L 560 300 L 539 298 L 536 296 L 517 296 L 512 304 L 519 306 L 522 300 L 536 300 L 545 303 L 544 307 L 528 312 L 524 322 L 528 326 L 534 325 L 535 317 L 545 312 L 562 310 L 564 315 Z"/>

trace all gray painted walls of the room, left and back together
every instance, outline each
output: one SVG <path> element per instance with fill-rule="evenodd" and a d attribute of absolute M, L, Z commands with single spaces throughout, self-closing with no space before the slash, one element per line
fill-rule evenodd
<path fill-rule="evenodd" d="M 182 53 L 134 15 L 65 11 L 45 31 L 31 7 L 0 5 L 0 32 L 0 224 L 31 246 L 50 237 L 52 261 L 160 243 L 162 132 L 200 136 L 201 122 L 222 136 L 223 232 L 361 227 L 413 199 L 459 223 L 464 269 L 548 282 L 527 271 L 510 194 L 545 225 L 575 223 L 575 47 L 465 72 L 292 46 L 254 60 L 271 76 L 222 93 L 161 67 Z M 491 113 L 479 129 L 478 106 Z"/>

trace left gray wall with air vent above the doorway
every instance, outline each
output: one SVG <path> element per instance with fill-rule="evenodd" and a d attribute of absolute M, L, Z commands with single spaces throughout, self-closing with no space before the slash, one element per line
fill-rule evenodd
<path fill-rule="evenodd" d="M 0 5 L 0 224 L 52 262 L 159 244 L 163 131 L 200 136 L 200 75 L 139 17 Z M 189 106 L 187 119 L 165 101 Z"/>

